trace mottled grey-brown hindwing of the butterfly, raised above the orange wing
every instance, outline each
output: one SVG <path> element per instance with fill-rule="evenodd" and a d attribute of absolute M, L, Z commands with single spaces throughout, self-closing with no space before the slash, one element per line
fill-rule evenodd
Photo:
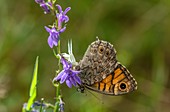
<path fill-rule="evenodd" d="M 102 40 L 94 41 L 86 50 L 78 69 L 82 82 L 92 85 L 106 78 L 115 69 L 116 50 L 113 45 Z"/>

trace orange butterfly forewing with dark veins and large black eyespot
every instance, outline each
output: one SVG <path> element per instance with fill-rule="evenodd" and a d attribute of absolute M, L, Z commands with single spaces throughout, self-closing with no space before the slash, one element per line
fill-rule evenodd
<path fill-rule="evenodd" d="M 121 95 L 137 89 L 137 82 L 120 63 L 116 69 L 101 82 L 85 85 L 86 88 L 106 95 Z"/>

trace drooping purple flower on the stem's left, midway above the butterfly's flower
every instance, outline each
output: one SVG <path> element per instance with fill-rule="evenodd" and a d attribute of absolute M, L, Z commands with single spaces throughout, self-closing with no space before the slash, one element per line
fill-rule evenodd
<path fill-rule="evenodd" d="M 64 32 L 66 27 L 62 28 L 61 30 L 57 31 L 55 27 L 52 29 L 45 26 L 46 31 L 50 34 L 48 37 L 48 45 L 53 48 L 53 46 L 58 45 L 60 33 Z"/>

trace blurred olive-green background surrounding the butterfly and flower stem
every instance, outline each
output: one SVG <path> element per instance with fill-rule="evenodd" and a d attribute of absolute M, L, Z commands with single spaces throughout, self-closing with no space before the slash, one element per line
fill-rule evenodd
<path fill-rule="evenodd" d="M 62 52 L 68 39 L 80 60 L 88 45 L 100 39 L 117 50 L 118 60 L 138 82 L 138 90 L 105 96 L 62 85 L 66 112 L 170 111 L 170 1 L 169 0 L 58 0 L 70 21 L 61 35 Z M 44 15 L 34 0 L 0 0 L 0 112 L 20 112 L 28 93 L 36 56 L 40 56 L 38 97 L 54 103 L 51 81 L 57 60 L 47 44 Z M 97 97 L 97 98 L 96 98 Z"/>

